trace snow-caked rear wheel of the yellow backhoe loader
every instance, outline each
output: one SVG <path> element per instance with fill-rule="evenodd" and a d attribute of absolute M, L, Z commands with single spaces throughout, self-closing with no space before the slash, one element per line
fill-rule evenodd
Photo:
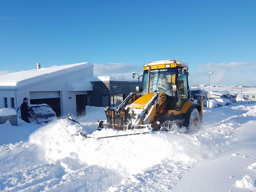
<path fill-rule="evenodd" d="M 200 117 L 199 111 L 196 108 L 194 108 L 191 111 L 190 116 L 188 118 L 187 131 L 195 132 L 199 130 L 200 127 L 201 127 L 201 117 Z"/>

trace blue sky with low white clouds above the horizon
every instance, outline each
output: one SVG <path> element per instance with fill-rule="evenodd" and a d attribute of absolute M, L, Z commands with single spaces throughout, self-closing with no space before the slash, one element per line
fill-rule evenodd
<path fill-rule="evenodd" d="M 177 58 L 190 84 L 256 86 L 256 0 L 0 0 L 0 71 L 91 62 L 131 76 Z M 129 77 L 128 77 L 129 78 Z"/>

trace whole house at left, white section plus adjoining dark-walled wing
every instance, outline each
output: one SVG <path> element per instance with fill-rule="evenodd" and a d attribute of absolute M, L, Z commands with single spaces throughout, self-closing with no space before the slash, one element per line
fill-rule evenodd
<path fill-rule="evenodd" d="M 92 82 L 92 83 L 91 83 Z M 57 116 L 85 114 L 85 106 L 116 106 L 137 83 L 110 77 L 94 77 L 93 64 L 62 65 L 0 75 L 0 109 L 29 104 L 50 105 Z"/>

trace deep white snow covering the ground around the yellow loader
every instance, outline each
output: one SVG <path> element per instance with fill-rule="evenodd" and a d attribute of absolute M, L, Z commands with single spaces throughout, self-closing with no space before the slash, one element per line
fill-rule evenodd
<path fill-rule="evenodd" d="M 0 125 L 0 191 L 256 192 L 255 103 L 205 108 L 193 134 L 98 140 L 76 135 L 106 118 L 101 107 L 86 111 L 68 130 L 58 121 Z"/>

